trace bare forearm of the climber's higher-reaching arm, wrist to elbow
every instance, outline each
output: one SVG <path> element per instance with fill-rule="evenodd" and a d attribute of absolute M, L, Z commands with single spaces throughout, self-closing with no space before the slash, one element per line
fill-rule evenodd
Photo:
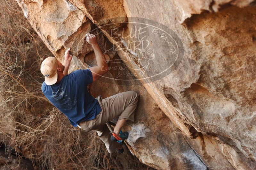
<path fill-rule="evenodd" d="M 95 53 L 97 66 L 100 67 L 102 71 L 107 72 L 108 63 L 107 63 L 107 60 L 106 60 L 105 56 L 103 55 L 103 52 L 100 49 L 100 46 L 98 45 L 98 43 L 95 43 L 95 44 L 92 44 L 92 48 L 93 48 L 94 53 Z"/>

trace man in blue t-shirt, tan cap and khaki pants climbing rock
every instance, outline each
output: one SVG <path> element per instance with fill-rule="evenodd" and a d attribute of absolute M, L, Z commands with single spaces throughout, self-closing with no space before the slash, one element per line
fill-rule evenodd
<path fill-rule="evenodd" d="M 42 92 L 68 117 L 74 127 L 78 126 L 85 131 L 97 131 L 109 153 L 113 153 L 116 148 L 118 152 L 123 152 L 119 144 L 123 144 L 123 140 L 127 139 L 129 134 L 122 132 L 121 129 L 125 122 L 134 122 L 139 95 L 135 91 L 127 91 L 105 99 L 101 99 L 100 95 L 96 98 L 91 96 L 87 85 L 108 72 L 108 63 L 96 36 L 87 33 L 86 41 L 92 45 L 97 66 L 68 74 L 72 60 L 70 48 L 65 52 L 63 65 L 55 57 L 48 57 L 41 65 L 41 72 L 44 75 Z M 117 116 L 119 117 L 115 129 L 110 132 L 106 123 Z"/>

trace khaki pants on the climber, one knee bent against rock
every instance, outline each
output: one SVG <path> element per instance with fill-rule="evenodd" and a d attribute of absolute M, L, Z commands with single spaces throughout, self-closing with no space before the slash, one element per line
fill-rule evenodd
<path fill-rule="evenodd" d="M 117 142 L 111 141 L 111 134 L 107 122 L 115 117 L 125 119 L 127 122 L 134 122 L 134 112 L 139 100 L 139 95 L 135 91 L 127 91 L 116 95 L 101 99 L 99 95 L 96 97 L 102 108 L 101 112 L 95 119 L 84 121 L 78 124 L 78 127 L 85 131 L 97 131 L 100 139 L 105 143 L 109 153 L 116 150 Z"/>

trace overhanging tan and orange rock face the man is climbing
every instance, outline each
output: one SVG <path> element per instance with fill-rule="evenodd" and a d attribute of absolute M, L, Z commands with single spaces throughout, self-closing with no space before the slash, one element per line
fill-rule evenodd
<path fill-rule="evenodd" d="M 111 69 L 90 92 L 104 98 L 128 90 L 140 94 L 135 124 L 125 129 L 130 132 L 130 151 L 143 163 L 157 169 L 256 168 L 255 2 L 18 3 L 60 61 L 71 47 L 70 72 L 96 65 L 84 36 L 97 36 Z M 171 38 L 161 29 L 147 34 L 149 26 L 142 30 L 147 41 L 131 36 L 142 28 L 134 27 L 141 18 L 171 29 Z M 168 74 L 153 78 L 169 65 Z M 125 74 L 120 75 L 120 68 Z"/>

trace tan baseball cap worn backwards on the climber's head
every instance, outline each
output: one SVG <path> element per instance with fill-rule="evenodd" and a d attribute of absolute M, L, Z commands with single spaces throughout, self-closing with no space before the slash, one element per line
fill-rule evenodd
<path fill-rule="evenodd" d="M 47 85 L 52 85 L 57 82 L 58 60 L 55 57 L 47 57 L 41 64 L 41 73 L 44 75 L 44 81 Z"/>

